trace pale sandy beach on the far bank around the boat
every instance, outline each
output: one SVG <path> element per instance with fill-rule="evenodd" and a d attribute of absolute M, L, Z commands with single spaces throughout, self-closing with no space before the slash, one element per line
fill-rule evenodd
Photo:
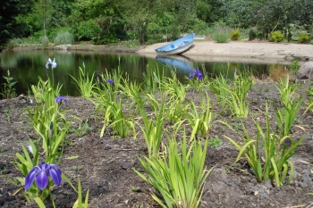
<path fill-rule="evenodd" d="M 155 58 L 155 48 L 164 45 L 165 43 L 157 43 L 146 46 L 136 53 Z M 182 55 L 193 61 L 207 62 L 288 63 L 296 59 L 306 62 L 313 58 L 313 45 L 241 41 L 217 44 L 213 41 L 195 41 L 194 46 Z"/>

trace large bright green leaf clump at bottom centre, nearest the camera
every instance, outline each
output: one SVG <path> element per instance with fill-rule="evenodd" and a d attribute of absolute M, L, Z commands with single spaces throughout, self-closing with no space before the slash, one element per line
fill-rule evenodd
<path fill-rule="evenodd" d="M 178 152 L 175 136 L 169 138 L 165 158 L 153 156 L 140 159 L 148 176 L 134 170 L 142 179 L 157 189 L 163 199 L 152 193 L 162 207 L 199 207 L 203 185 L 212 169 L 204 168 L 207 141 L 202 149 L 201 141 L 194 141 L 187 149 L 186 134 L 181 140 L 182 153 Z"/>

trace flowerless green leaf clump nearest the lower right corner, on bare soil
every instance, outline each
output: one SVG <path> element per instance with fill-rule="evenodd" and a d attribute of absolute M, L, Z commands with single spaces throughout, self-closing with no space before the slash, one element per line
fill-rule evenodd
<path fill-rule="evenodd" d="M 266 104 L 266 132 L 256 122 L 257 134 L 256 137 L 251 137 L 244 128 L 245 136 L 242 137 L 243 146 L 240 146 L 232 138 L 226 137 L 233 143 L 240 153 L 235 162 L 241 160 L 241 156 L 249 162 L 250 167 L 254 171 L 258 182 L 265 182 L 268 179 L 275 181 L 277 187 L 280 187 L 285 182 L 284 179 L 289 172 L 287 184 L 293 178 L 293 164 L 289 160 L 295 153 L 294 150 L 300 146 L 304 137 L 301 137 L 297 142 L 294 142 L 292 137 L 281 137 L 270 128 L 268 107 Z M 290 145 L 286 146 L 286 140 L 290 141 Z M 263 154 L 261 153 L 263 151 Z"/>

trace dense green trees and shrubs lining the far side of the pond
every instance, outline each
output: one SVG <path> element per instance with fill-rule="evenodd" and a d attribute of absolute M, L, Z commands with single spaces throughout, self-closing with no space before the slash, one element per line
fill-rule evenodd
<path fill-rule="evenodd" d="M 233 29 L 313 32 L 312 0 L 1 0 L 0 46 L 17 37 L 69 31 L 76 40 L 106 44 L 137 39 L 159 41 L 165 34 L 201 33 L 216 22 Z"/>

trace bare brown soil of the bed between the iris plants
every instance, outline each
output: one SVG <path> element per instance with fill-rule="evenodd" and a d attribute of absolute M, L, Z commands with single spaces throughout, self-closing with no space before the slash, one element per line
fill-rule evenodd
<path fill-rule="evenodd" d="M 241 121 L 250 134 L 256 132 L 253 121 L 265 124 L 265 104 L 279 104 L 279 92 L 275 82 L 270 80 L 257 81 L 249 92 L 250 116 Z M 305 96 L 307 85 L 300 87 L 300 94 Z M 188 99 L 199 104 L 203 93 L 188 92 Z M 292 183 L 282 187 L 275 187 L 271 181 L 258 183 L 246 161 L 235 163 L 238 151 L 224 136 L 241 141 L 243 131 L 240 120 L 220 112 L 216 98 L 209 93 L 213 104 L 216 120 L 227 121 L 235 131 L 220 123 L 215 123 L 210 130 L 210 137 L 219 137 L 223 141 L 217 148 L 208 147 L 206 167 L 214 167 L 204 186 L 200 207 L 313 207 L 313 196 L 306 195 L 313 192 L 313 112 L 303 114 L 307 106 L 307 99 L 303 104 L 299 116 L 292 128 L 292 137 L 305 137 L 297 148 L 297 155 L 291 161 L 294 164 L 294 178 Z M 306 98 L 306 96 L 305 96 Z M 27 204 L 21 192 L 15 192 L 8 180 L 22 177 L 13 165 L 16 153 L 21 153 L 21 144 L 29 145 L 29 138 L 37 140 L 38 136 L 25 119 L 26 108 L 32 108 L 25 99 L 17 97 L 0 101 L 0 207 L 37 207 L 35 203 Z M 137 157 L 147 156 L 147 147 L 142 137 L 140 127 L 137 126 L 137 139 L 133 137 L 115 137 L 112 129 L 106 129 L 104 137 L 99 137 L 102 127 L 101 120 L 95 121 L 95 107 L 91 102 L 81 97 L 69 97 L 69 104 L 63 105 L 67 118 L 79 117 L 82 123 L 88 122 L 92 128 L 83 136 L 71 132 L 64 143 L 63 158 L 79 156 L 74 160 L 62 160 L 60 168 L 77 187 L 80 179 L 83 196 L 89 189 L 89 207 L 160 207 L 151 197 L 155 192 L 147 182 L 132 170 L 144 172 Z M 270 105 L 271 125 L 275 129 L 274 107 Z M 165 127 L 166 129 L 169 126 Z M 187 132 L 190 135 L 190 132 Z M 164 138 L 166 143 L 166 138 Z M 135 187 L 135 188 L 133 188 Z M 54 187 L 53 196 L 56 207 L 72 207 L 77 194 L 62 181 L 60 187 Z M 52 207 L 47 200 L 47 207 Z"/>

